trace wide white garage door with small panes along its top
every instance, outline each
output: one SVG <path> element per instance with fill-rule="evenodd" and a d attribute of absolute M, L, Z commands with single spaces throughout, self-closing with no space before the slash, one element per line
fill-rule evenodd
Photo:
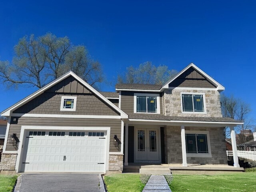
<path fill-rule="evenodd" d="M 106 132 L 27 131 L 21 172 L 105 172 Z"/>

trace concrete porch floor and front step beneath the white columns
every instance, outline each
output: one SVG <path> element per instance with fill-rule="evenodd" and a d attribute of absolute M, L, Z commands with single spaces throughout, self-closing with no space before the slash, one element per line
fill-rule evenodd
<path fill-rule="evenodd" d="M 146 164 L 129 163 L 124 166 L 123 172 L 139 172 L 151 174 L 228 174 L 231 172 L 243 172 L 244 168 L 235 168 L 228 165 L 201 165 L 188 164 L 187 167 L 182 164 Z"/>

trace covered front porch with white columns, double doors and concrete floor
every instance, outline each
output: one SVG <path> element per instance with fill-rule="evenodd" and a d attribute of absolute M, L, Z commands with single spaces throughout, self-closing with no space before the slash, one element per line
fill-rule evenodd
<path fill-rule="evenodd" d="M 243 171 L 236 148 L 233 148 L 234 166 L 228 166 L 225 125 L 227 122 L 125 122 L 123 172 L 214 174 Z M 232 145 L 236 146 L 234 125 L 228 126 Z"/>

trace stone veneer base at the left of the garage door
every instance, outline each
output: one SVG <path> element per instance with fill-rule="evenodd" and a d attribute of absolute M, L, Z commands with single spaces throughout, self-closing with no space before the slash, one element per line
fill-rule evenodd
<path fill-rule="evenodd" d="M 5 171 L 14 171 L 16 164 L 17 154 L 2 153 L 0 170 Z"/>

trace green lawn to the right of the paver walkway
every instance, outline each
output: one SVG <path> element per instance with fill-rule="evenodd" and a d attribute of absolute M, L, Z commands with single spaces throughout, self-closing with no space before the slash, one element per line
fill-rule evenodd
<path fill-rule="evenodd" d="M 172 192 L 256 192 L 256 173 L 173 175 Z"/>

